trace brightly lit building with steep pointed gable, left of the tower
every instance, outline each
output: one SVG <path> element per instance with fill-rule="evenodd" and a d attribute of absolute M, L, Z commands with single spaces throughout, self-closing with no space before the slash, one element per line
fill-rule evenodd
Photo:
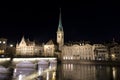
<path fill-rule="evenodd" d="M 40 46 L 36 46 L 35 42 L 28 40 L 25 40 L 24 37 L 22 37 L 21 42 L 16 44 L 16 55 L 37 55 L 39 54 Z"/>

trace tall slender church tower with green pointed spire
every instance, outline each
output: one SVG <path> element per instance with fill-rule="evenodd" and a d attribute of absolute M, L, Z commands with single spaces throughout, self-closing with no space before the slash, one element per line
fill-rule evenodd
<path fill-rule="evenodd" d="M 58 30 L 57 30 L 57 43 L 59 45 L 59 50 L 61 50 L 61 47 L 64 45 L 64 31 L 63 31 L 62 20 L 61 20 L 61 9 L 60 9 L 59 24 L 58 24 Z"/>

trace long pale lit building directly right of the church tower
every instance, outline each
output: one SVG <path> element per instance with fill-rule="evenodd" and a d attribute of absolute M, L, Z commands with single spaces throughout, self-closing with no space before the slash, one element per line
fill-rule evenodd
<path fill-rule="evenodd" d="M 94 60 L 94 52 L 90 44 L 64 45 L 62 48 L 63 60 Z"/>

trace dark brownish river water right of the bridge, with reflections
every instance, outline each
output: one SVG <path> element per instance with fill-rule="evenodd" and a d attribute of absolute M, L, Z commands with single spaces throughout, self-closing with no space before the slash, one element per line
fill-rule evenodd
<path fill-rule="evenodd" d="M 59 69 L 57 80 L 120 80 L 119 67 L 62 64 Z"/>

